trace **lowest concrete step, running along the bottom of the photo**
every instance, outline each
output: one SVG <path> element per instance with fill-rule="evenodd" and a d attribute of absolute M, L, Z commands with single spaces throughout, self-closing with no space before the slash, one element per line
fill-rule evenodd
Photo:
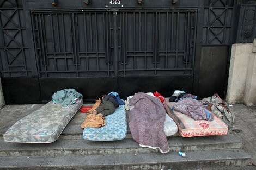
<path fill-rule="evenodd" d="M 5 156 L 0 169 L 194 169 L 248 166 L 250 156 L 242 149 L 197 150 L 181 157 L 167 154 L 110 154 L 73 156 Z"/>

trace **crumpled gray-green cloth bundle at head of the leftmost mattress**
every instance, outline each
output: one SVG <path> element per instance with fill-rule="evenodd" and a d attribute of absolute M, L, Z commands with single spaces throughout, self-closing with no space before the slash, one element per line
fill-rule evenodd
<path fill-rule="evenodd" d="M 76 92 L 75 89 L 63 89 L 52 95 L 52 103 L 56 103 L 62 106 L 69 106 L 71 104 L 78 103 L 82 98 L 83 95 Z"/>

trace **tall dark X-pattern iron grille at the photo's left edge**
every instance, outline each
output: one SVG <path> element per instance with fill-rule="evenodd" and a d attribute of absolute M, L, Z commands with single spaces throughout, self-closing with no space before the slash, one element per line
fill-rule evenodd
<path fill-rule="evenodd" d="M 22 1 L 0 2 L 0 70 L 3 77 L 32 73 Z"/>

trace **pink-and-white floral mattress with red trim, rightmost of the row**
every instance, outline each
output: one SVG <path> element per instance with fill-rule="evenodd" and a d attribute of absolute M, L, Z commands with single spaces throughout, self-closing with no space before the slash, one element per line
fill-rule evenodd
<path fill-rule="evenodd" d="M 214 120 L 209 122 L 205 120 L 195 121 L 193 118 L 181 112 L 172 109 L 175 102 L 166 100 L 166 111 L 170 117 L 178 125 L 179 134 L 182 137 L 194 136 L 212 136 L 212 135 L 227 135 L 228 125 L 214 115 Z"/>

